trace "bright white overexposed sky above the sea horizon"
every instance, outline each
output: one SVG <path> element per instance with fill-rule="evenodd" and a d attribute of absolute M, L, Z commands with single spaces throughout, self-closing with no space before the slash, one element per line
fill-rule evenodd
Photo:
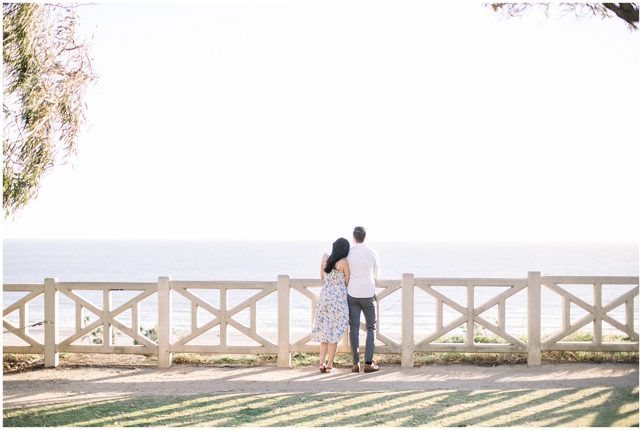
<path fill-rule="evenodd" d="M 5 238 L 639 239 L 639 33 L 619 19 L 497 22 L 479 3 L 79 15 L 91 129 Z"/>

